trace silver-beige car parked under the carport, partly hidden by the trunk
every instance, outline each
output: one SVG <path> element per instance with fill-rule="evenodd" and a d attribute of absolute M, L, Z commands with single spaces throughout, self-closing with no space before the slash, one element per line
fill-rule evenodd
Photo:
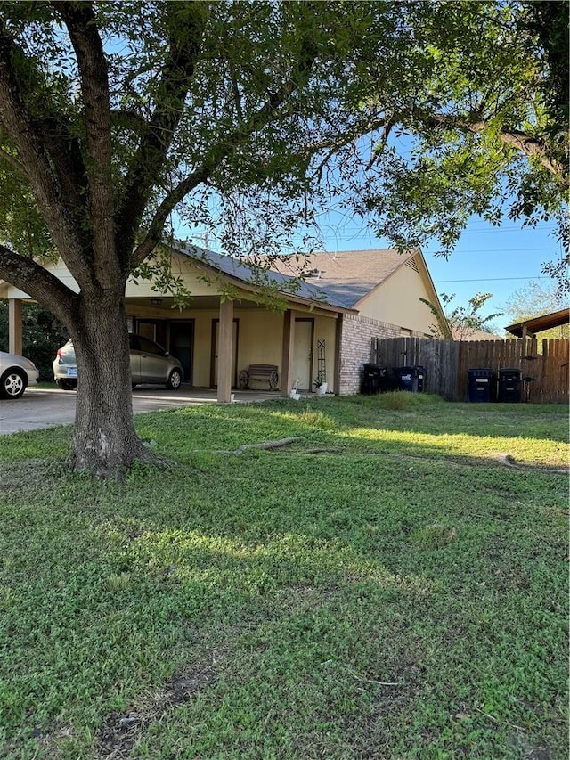
<path fill-rule="evenodd" d="M 162 346 L 143 335 L 129 333 L 128 342 L 133 388 L 142 383 L 165 385 L 170 390 L 180 388 L 183 367 L 175 356 L 171 356 Z M 53 378 L 60 388 L 77 388 L 77 364 L 71 339 L 65 346 L 58 348 L 53 361 Z"/>

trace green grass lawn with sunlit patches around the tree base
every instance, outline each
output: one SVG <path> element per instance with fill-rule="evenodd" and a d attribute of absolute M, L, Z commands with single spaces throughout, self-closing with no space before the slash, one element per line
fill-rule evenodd
<path fill-rule="evenodd" d="M 0 756 L 566 760 L 566 407 L 137 429 L 176 466 L 120 484 L 64 470 L 69 428 L 0 437 Z"/>

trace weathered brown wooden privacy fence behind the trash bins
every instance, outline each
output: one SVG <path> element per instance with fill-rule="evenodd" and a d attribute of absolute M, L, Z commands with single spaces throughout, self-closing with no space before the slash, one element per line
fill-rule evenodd
<path fill-rule="evenodd" d="M 468 401 L 468 370 L 522 372 L 521 401 L 530 404 L 568 402 L 569 342 L 539 340 L 439 340 L 373 338 L 371 364 L 424 367 L 424 391 L 450 401 Z M 540 352 L 540 353 L 539 353 Z"/>

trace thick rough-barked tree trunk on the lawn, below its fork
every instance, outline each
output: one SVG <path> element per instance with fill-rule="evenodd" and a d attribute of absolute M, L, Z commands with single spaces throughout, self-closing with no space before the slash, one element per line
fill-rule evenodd
<path fill-rule="evenodd" d="M 134 432 L 123 293 L 90 294 L 69 327 L 78 372 L 70 463 L 102 478 L 121 478 L 135 460 L 157 461 Z"/>

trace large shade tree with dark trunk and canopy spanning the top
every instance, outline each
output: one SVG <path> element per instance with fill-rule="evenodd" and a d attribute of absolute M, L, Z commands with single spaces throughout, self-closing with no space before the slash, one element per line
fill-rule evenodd
<path fill-rule="evenodd" d="M 555 5 L 4 2 L 0 276 L 74 339 L 74 465 L 107 475 L 150 458 L 122 298 L 174 214 L 269 263 L 331 206 L 373 212 L 399 246 L 435 235 L 447 251 L 470 214 L 498 223 L 507 198 L 528 224 L 557 217 Z M 77 292 L 42 266 L 54 252 Z"/>

